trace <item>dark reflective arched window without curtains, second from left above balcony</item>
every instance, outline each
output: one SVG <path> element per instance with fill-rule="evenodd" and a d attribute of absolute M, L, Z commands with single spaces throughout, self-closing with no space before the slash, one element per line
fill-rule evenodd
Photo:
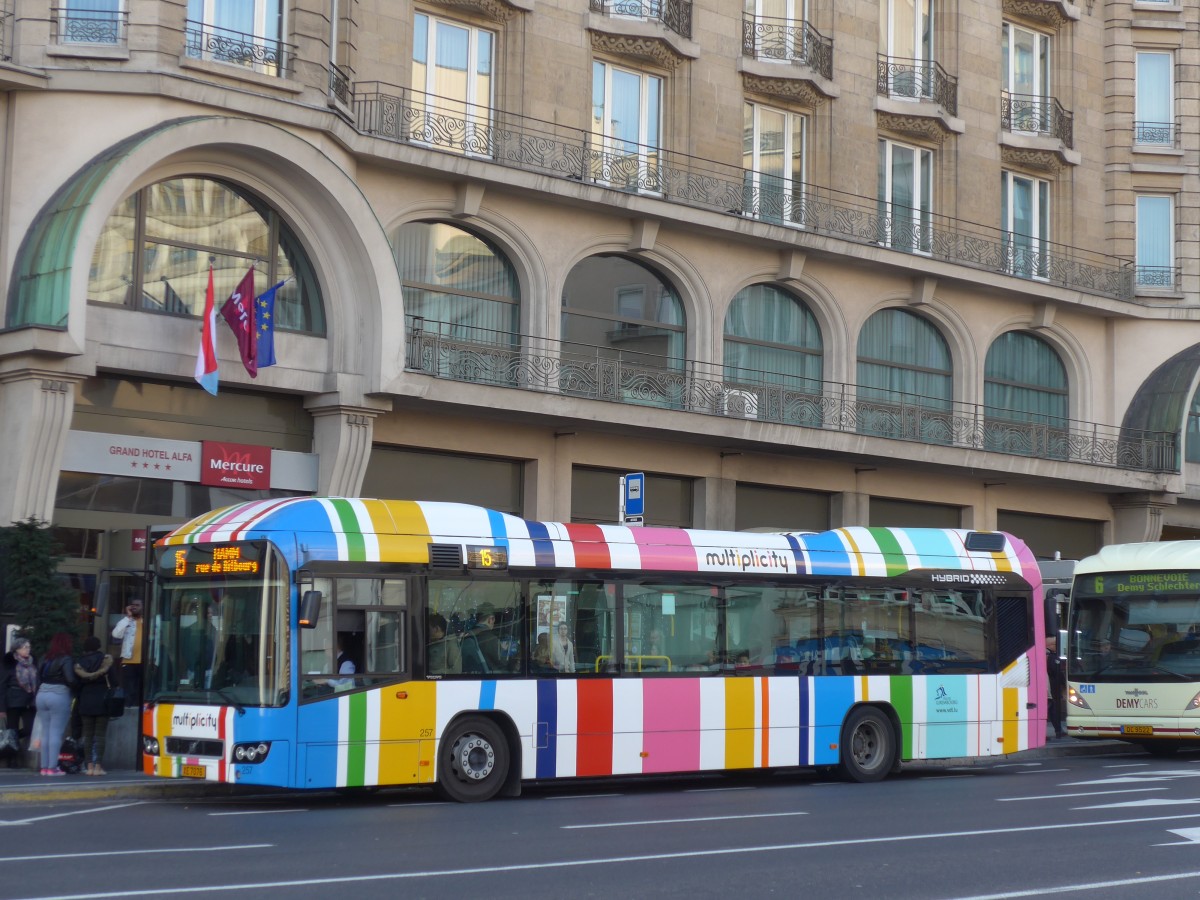
<path fill-rule="evenodd" d="M 613 254 L 576 264 L 563 286 L 563 341 L 564 390 L 630 403 L 682 404 L 683 302 L 653 269 Z M 601 360 L 619 362 L 618 396 L 608 396 Z"/>

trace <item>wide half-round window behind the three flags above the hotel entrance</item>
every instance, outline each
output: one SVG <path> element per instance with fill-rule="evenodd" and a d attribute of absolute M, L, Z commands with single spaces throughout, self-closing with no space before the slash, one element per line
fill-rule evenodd
<path fill-rule="evenodd" d="M 276 330 L 325 332 L 317 278 L 292 228 L 262 198 L 208 178 L 160 181 L 113 210 L 92 253 L 88 299 L 199 316 L 210 265 L 217 305 L 253 265 L 257 292 L 284 282 Z"/>

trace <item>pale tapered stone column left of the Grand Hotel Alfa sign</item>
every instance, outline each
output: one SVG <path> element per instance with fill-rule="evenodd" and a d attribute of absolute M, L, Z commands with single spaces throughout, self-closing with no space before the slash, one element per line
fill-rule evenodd
<path fill-rule="evenodd" d="M 74 412 L 74 385 L 61 372 L 18 370 L 0 376 L 0 524 L 54 516 L 62 448 Z"/>

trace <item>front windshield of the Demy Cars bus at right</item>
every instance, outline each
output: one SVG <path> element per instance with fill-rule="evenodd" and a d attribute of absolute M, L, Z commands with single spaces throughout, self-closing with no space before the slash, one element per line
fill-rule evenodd
<path fill-rule="evenodd" d="M 1069 644 L 1075 682 L 1200 679 L 1200 595 L 1076 596 Z"/>

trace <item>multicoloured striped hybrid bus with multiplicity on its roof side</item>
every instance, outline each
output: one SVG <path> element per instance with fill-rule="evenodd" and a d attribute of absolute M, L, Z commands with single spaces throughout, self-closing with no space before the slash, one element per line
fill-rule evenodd
<path fill-rule="evenodd" d="M 534 522 L 260 500 L 158 541 L 146 773 L 433 785 L 838 767 L 1045 740 L 1040 577 L 1000 532 Z"/>

